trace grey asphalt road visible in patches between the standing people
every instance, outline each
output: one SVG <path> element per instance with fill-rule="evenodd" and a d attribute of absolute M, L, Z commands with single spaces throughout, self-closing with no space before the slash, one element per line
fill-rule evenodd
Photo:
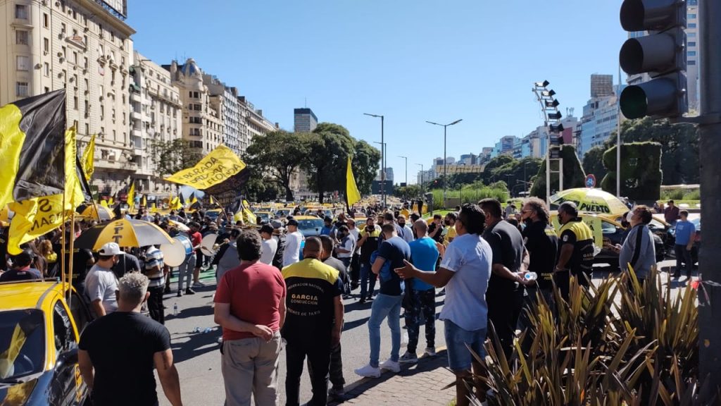
<path fill-rule="evenodd" d="M 672 270 L 675 264 L 673 260 L 666 260 L 659 264 L 662 280 L 666 280 L 665 272 Z M 600 280 L 609 271 L 613 271 L 606 265 L 596 266 L 594 279 Z M 694 272 L 694 277 L 696 276 Z M 203 274 L 205 282 L 215 280 L 212 272 Z M 671 280 L 671 288 L 678 288 L 686 285 L 686 277 L 680 280 Z M 175 287 L 175 283 L 173 283 Z M 377 287 L 377 285 L 376 285 Z M 166 295 L 165 305 L 167 306 L 166 327 L 169 329 L 172 337 L 172 349 L 178 372 L 180 373 L 180 385 L 182 389 L 182 398 L 185 405 L 223 405 L 225 400 L 223 376 L 221 374 L 221 354 L 218 351 L 218 337 L 221 336 L 220 329 L 213 322 L 213 292 L 215 285 L 208 285 L 205 288 L 198 288 L 197 294 L 185 295 L 182 298 L 176 298 L 175 295 Z M 354 290 L 354 296 L 359 290 Z M 441 308 L 443 308 L 444 296 L 437 290 L 436 295 L 436 319 Z M 342 358 L 343 358 L 343 374 L 346 385 L 353 384 L 360 378 L 353 373 L 355 368 L 360 368 L 368 363 L 369 343 L 368 343 L 368 318 L 371 316 L 371 303 L 361 305 L 357 303 L 356 298 L 344 301 L 345 304 L 345 328 L 342 334 Z M 177 303 L 180 313 L 172 316 L 172 308 Z M 401 325 L 404 322 L 401 321 Z M 435 346 L 444 347 L 443 340 L 443 323 L 436 320 Z M 193 332 L 195 327 L 200 328 L 200 332 Z M 211 327 L 212 332 L 204 333 L 203 330 Z M 405 334 L 405 329 L 402 330 Z M 402 340 L 405 342 L 405 340 Z M 425 348 L 425 332 L 420 333 L 418 353 Z M 405 345 L 402 345 L 401 354 L 405 351 Z M 390 331 L 386 324 L 381 326 L 381 362 L 385 360 L 390 353 Z M 280 405 L 285 404 L 284 382 L 286 379 L 286 360 L 285 355 L 281 353 L 280 368 L 278 376 L 278 386 L 280 394 Z M 160 405 L 169 405 L 167 399 L 162 394 L 162 389 L 158 387 Z M 310 381 L 307 372 L 301 379 L 301 404 L 307 402 L 311 397 Z"/>

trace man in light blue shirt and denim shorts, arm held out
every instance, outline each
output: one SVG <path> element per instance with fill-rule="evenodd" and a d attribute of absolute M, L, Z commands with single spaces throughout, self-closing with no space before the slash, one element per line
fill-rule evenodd
<path fill-rule="evenodd" d="M 485 357 L 488 306 L 485 300 L 491 274 L 492 250 L 481 238 L 485 227 L 484 214 L 476 204 L 464 204 L 456 220 L 457 236 L 448 245 L 437 271 L 421 271 L 410 262 L 395 269 L 404 279 L 419 279 L 436 288 L 446 288 L 440 319 L 445 323 L 448 366 L 456 374 L 456 404 L 469 405 L 471 368 L 476 376 L 482 368 L 468 348 Z M 470 384 L 470 382 L 469 382 Z M 479 379 L 474 380 L 476 398 L 485 399 Z"/>

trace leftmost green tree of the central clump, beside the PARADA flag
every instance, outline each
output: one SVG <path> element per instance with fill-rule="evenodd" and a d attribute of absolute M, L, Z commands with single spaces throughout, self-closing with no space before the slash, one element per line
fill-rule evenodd
<path fill-rule="evenodd" d="M 297 173 L 306 156 L 307 134 L 273 131 L 253 137 L 246 150 L 247 164 L 254 168 L 252 178 L 277 183 L 286 192 L 286 201 L 293 200 L 291 178 Z"/>

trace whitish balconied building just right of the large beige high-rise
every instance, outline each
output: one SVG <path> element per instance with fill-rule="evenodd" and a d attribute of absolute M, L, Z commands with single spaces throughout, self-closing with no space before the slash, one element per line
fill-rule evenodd
<path fill-rule="evenodd" d="M 150 200 L 177 194 L 174 183 L 163 181 L 154 152 L 158 142 L 182 137 L 180 90 L 170 73 L 137 51 L 130 69 L 130 131 L 136 190 Z"/>

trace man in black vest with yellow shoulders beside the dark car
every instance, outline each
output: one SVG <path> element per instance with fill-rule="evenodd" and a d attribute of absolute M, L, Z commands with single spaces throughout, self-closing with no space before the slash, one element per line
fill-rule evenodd
<path fill-rule="evenodd" d="M 574 202 L 563 202 L 558 207 L 559 246 L 554 269 L 561 295 L 568 300 L 569 280 L 573 276 L 579 285 L 588 288 L 593 277 L 593 232 L 578 217 Z"/>

